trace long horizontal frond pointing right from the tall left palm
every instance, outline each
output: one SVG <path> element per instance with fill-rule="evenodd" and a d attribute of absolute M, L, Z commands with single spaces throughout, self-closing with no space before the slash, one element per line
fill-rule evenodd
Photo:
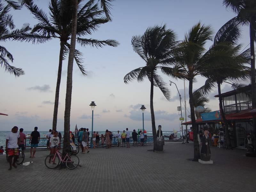
<path fill-rule="evenodd" d="M 91 47 L 103 47 L 106 45 L 112 46 L 112 47 L 117 47 L 117 45 L 119 45 L 119 43 L 116 40 L 113 39 L 107 39 L 107 40 L 97 40 L 97 39 L 85 39 L 85 38 L 76 38 L 77 39 L 77 43 L 79 43 L 81 46 L 86 46 L 86 45 L 90 45 Z"/>

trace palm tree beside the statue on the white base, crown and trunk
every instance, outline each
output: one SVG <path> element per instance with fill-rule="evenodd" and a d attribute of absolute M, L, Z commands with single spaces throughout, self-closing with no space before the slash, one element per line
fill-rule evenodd
<path fill-rule="evenodd" d="M 195 117 L 195 102 L 193 98 L 193 82 L 196 77 L 201 75 L 204 69 L 208 66 L 208 61 L 211 55 L 204 54 L 205 43 L 212 39 L 212 29 L 210 26 L 201 25 L 197 23 L 188 33 L 186 33 L 184 40 L 175 48 L 175 60 L 184 69 L 183 78 L 189 82 L 189 105 L 190 115 L 194 138 L 194 159 L 200 159 L 199 143 L 197 138 L 197 127 Z"/>

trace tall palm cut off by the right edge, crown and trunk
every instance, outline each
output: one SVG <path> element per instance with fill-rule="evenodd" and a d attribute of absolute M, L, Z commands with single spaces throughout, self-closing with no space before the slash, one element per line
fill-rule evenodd
<path fill-rule="evenodd" d="M 256 73 L 255 73 L 255 51 L 256 42 L 256 1 L 255 0 L 223 0 L 226 8 L 230 7 L 237 16 L 235 19 L 241 24 L 250 26 L 250 56 L 251 56 L 251 86 L 252 86 L 252 108 L 256 108 Z M 254 138 L 256 138 L 256 117 L 252 118 L 254 127 Z M 256 141 L 255 141 L 256 146 Z"/>

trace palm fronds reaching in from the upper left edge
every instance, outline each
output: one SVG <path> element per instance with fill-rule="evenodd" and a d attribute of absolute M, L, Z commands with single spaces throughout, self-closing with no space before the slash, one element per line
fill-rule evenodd
<path fill-rule="evenodd" d="M 5 42 L 12 38 L 12 35 L 16 34 L 17 32 L 26 32 L 30 28 L 28 24 L 24 24 L 23 28 L 13 30 L 15 25 L 12 20 L 12 15 L 9 14 L 11 8 L 13 9 L 20 9 L 20 5 L 13 1 L 5 1 L 7 5 L 4 6 L 2 4 L 2 0 L 0 0 L 0 41 Z M 10 31 L 12 30 L 12 31 Z M 21 68 L 16 68 L 9 64 L 9 61 L 13 62 L 12 54 L 3 46 L 0 45 L 0 65 L 5 69 L 5 71 L 13 74 L 14 76 L 24 75 L 24 71 Z"/>

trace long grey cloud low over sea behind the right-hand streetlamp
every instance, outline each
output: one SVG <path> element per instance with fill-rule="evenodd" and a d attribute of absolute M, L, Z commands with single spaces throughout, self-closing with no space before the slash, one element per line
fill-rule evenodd
<path fill-rule="evenodd" d="M 129 115 L 124 115 L 124 117 L 128 117 L 134 121 L 141 121 L 142 120 L 142 112 L 139 110 L 132 110 L 129 112 Z M 156 120 L 167 120 L 172 121 L 176 118 L 178 118 L 178 113 L 168 113 L 167 111 L 155 111 L 155 119 Z M 150 113 L 144 113 L 144 120 L 145 121 L 151 121 L 151 115 Z"/>

